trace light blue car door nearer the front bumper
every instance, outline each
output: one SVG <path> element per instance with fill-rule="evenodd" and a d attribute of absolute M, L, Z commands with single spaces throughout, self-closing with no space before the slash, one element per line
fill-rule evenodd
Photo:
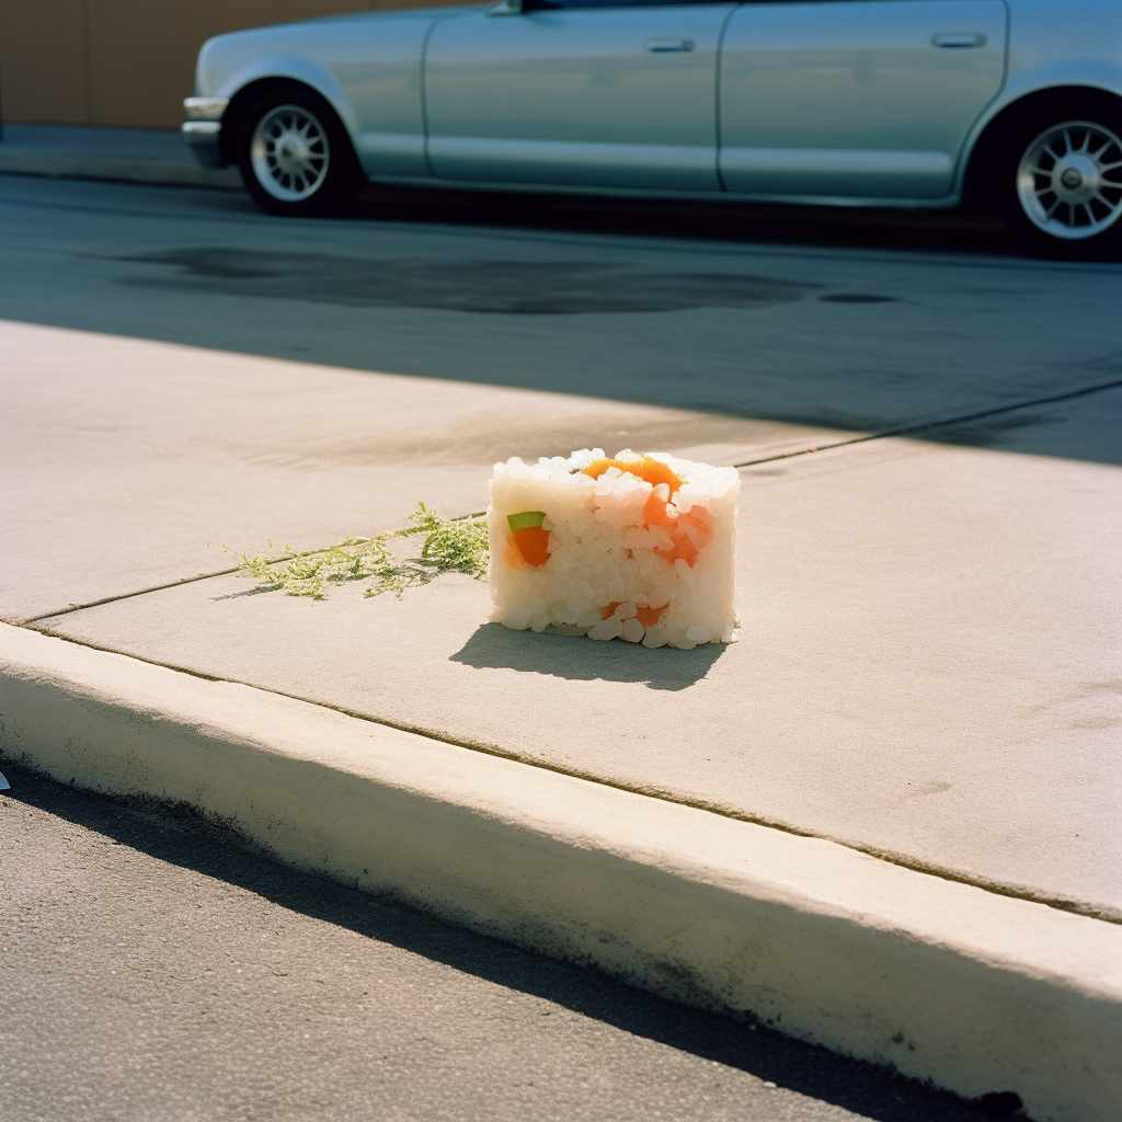
<path fill-rule="evenodd" d="M 717 47 L 733 4 L 526 3 L 433 29 L 424 91 L 436 176 L 720 188 Z"/>

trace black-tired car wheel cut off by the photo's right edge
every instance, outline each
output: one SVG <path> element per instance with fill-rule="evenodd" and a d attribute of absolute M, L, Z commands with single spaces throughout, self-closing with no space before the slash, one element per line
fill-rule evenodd
<path fill-rule="evenodd" d="M 1033 107 L 994 163 L 996 201 L 1021 248 L 1084 260 L 1122 254 L 1122 101 L 1070 94 Z"/>

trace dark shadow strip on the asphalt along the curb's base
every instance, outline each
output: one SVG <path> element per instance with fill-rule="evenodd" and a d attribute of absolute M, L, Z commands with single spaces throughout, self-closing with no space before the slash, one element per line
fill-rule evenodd
<path fill-rule="evenodd" d="M 496 985 L 555 1002 L 585 1017 L 833 1103 L 875 1122 L 981 1122 L 1015 1104 L 987 1096 L 990 1110 L 914 1079 L 844 1059 L 763 1027 L 732 1021 L 632 990 L 598 971 L 554 962 L 450 927 L 333 882 L 284 867 L 237 835 L 191 811 L 126 803 L 77 791 L 4 763 L 19 799 L 119 844 L 236 884 L 304 916 L 443 963 Z"/>

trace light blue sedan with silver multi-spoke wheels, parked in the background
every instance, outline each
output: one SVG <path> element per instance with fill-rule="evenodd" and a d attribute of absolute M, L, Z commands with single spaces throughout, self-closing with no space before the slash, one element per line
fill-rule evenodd
<path fill-rule="evenodd" d="M 220 35 L 187 142 L 277 214 L 367 181 L 1000 210 L 1122 243 L 1122 0 L 502 0 Z"/>

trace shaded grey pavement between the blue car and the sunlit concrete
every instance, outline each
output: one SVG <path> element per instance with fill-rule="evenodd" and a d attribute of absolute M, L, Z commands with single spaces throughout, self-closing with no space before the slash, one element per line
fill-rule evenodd
<path fill-rule="evenodd" d="M 0 214 L 3 319 L 690 410 L 696 443 L 735 422 L 895 430 L 1122 378 L 1122 264 L 1012 257 L 939 215 L 457 195 L 295 221 L 230 192 L 18 176 Z"/>

